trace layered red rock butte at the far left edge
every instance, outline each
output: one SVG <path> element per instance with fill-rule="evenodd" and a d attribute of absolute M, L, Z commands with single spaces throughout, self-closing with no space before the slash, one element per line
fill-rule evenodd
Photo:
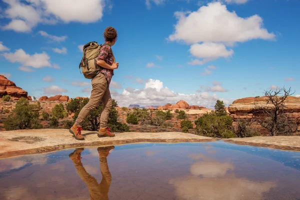
<path fill-rule="evenodd" d="M 18 100 L 20 97 L 28 98 L 27 91 L 17 87 L 14 82 L 8 80 L 4 75 L 0 75 L 0 98 L 10 95 L 12 100 Z"/>

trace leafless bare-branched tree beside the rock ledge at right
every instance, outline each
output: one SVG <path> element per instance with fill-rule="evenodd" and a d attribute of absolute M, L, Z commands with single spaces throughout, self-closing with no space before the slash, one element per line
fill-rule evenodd
<path fill-rule="evenodd" d="M 264 90 L 266 96 L 265 104 L 254 102 L 257 111 L 263 112 L 266 117 L 262 120 L 261 125 L 265 127 L 271 136 L 278 134 L 288 134 L 297 129 L 294 120 L 287 116 L 286 105 L 284 101 L 287 96 L 291 96 L 294 92 L 291 89 L 276 88 L 276 90 Z"/>

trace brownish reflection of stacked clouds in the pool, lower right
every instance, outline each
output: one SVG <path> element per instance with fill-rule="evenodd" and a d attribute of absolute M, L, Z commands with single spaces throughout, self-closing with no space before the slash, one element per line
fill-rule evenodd
<path fill-rule="evenodd" d="M 276 186 L 274 181 L 255 182 L 238 178 L 229 162 L 219 162 L 203 154 L 191 154 L 191 158 L 202 159 L 190 166 L 191 175 L 172 178 L 179 199 L 245 200 L 262 199 L 262 193 Z"/>

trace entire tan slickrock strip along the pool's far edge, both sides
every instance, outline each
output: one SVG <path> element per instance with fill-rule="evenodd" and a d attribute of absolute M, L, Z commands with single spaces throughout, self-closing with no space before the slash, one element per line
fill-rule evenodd
<path fill-rule="evenodd" d="M 115 137 L 97 137 L 97 132 L 82 131 L 76 140 L 67 129 L 34 129 L 0 132 L 0 158 L 45 153 L 66 148 L 116 145 L 136 142 L 207 142 L 215 138 L 183 132 L 123 132 Z M 300 151 L 300 136 L 260 136 L 223 139 L 227 142 Z"/>

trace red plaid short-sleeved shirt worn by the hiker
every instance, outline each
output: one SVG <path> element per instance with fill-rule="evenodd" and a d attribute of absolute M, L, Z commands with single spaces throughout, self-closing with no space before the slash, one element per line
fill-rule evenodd
<path fill-rule="evenodd" d="M 96 61 L 104 60 L 107 64 L 111 65 L 115 62 L 114 55 L 112 53 L 112 49 L 109 45 L 103 45 L 100 48 L 100 53 L 96 58 Z M 103 73 L 107 79 L 108 85 L 110 83 L 111 77 L 113 75 L 113 69 L 101 68 L 100 73 Z"/>

